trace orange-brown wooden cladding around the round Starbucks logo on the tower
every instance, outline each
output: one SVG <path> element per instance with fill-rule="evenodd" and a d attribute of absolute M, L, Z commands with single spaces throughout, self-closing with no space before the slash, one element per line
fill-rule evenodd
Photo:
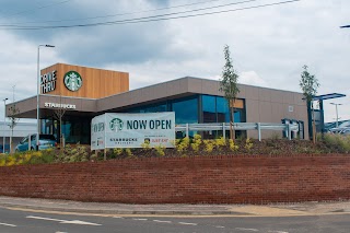
<path fill-rule="evenodd" d="M 56 90 L 45 94 L 101 98 L 129 91 L 129 73 L 57 63 L 42 70 L 42 74 L 57 70 Z M 82 86 L 72 92 L 63 83 L 68 71 L 77 71 L 82 77 Z"/>

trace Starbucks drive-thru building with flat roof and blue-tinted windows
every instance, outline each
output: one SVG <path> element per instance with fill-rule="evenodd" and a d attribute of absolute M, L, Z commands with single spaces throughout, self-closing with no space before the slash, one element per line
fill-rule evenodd
<path fill-rule="evenodd" d="M 57 63 L 40 74 L 40 131 L 59 136 L 55 112 L 65 109 L 61 128 L 67 143 L 90 143 L 91 119 L 104 113 L 175 112 L 176 124 L 229 123 L 228 102 L 219 91 L 219 81 L 186 77 L 130 91 L 127 72 Z M 300 125 L 300 137 L 308 138 L 302 93 L 244 84 L 238 88 L 235 123 L 292 120 Z M 14 104 L 20 110 L 18 117 L 36 118 L 36 96 Z M 7 115 L 12 105 L 7 105 Z M 240 133 L 257 138 L 254 130 Z M 277 132 L 264 131 L 262 138 L 271 133 Z M 203 132 L 205 137 L 213 135 Z"/>

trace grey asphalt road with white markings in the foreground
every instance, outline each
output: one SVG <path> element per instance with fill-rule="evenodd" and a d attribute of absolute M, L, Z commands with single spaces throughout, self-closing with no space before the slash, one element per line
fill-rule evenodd
<path fill-rule="evenodd" d="M 73 215 L 0 208 L 0 233 L 348 233 L 350 214 L 316 217 Z"/>

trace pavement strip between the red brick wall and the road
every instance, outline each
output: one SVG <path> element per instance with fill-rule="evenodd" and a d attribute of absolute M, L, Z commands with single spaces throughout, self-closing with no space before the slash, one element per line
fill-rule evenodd
<path fill-rule="evenodd" d="M 127 205 L 0 196 L 0 207 L 80 214 L 292 217 L 349 214 L 350 201 L 275 205 Z"/>

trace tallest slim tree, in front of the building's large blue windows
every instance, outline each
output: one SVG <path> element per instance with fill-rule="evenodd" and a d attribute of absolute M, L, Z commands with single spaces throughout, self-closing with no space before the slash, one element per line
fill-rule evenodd
<path fill-rule="evenodd" d="M 230 138 L 235 138 L 235 132 L 233 129 L 234 124 L 234 104 L 237 94 L 240 93 L 240 89 L 237 86 L 238 74 L 234 70 L 230 54 L 230 47 L 228 45 L 224 46 L 224 57 L 225 57 L 225 65 L 222 70 L 222 77 L 220 79 L 220 91 L 224 93 L 224 97 L 228 100 L 229 109 L 230 109 Z"/>

